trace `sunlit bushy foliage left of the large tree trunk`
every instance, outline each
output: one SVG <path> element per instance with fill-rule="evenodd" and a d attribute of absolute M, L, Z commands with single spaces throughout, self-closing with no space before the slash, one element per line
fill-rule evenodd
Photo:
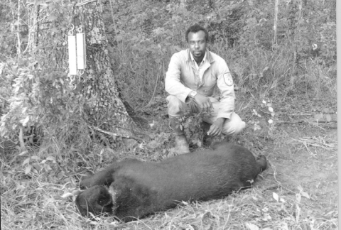
<path fill-rule="evenodd" d="M 49 1 L 42 5 L 51 9 L 49 20 L 52 23 L 55 22 L 54 27 L 48 28 L 47 33 L 53 34 L 53 40 L 44 40 L 46 46 L 60 44 L 65 38 L 63 34 L 67 21 L 66 10 L 63 9 L 65 4 L 67 3 Z M 11 5 L 12 11 L 21 9 L 19 6 L 22 8 L 20 23 L 27 24 L 28 11 L 26 7 L 23 7 L 26 6 L 26 1 L 18 1 L 18 4 Z M 14 14 L 16 13 L 14 11 Z M 58 20 L 61 22 L 57 22 Z M 21 27 L 18 26 L 17 30 Z M 27 33 L 22 34 L 18 36 L 17 42 L 23 43 L 27 39 Z M 58 48 L 55 48 L 53 52 L 58 52 Z M 8 83 L 6 98 L 4 98 L 6 113 L 1 114 L 0 136 L 18 141 L 20 133 L 23 133 L 21 141 L 26 142 L 29 136 L 38 135 L 40 139 L 43 136 L 46 143 L 58 146 L 53 150 L 59 149 L 59 153 L 62 150 L 59 147 L 64 143 L 77 145 L 78 141 L 86 142 L 88 139 L 87 135 L 84 135 L 86 133 L 84 128 L 87 129 L 84 112 L 85 98 L 80 94 L 75 94 L 72 85 L 67 83 L 65 72 L 50 70 L 50 67 L 43 66 L 46 60 L 43 45 L 31 50 L 31 53 L 11 51 L 7 55 L 13 55 L 13 57 L 0 63 L 1 76 Z M 33 133 L 33 129 L 38 133 Z M 83 137 L 83 140 L 80 137 Z M 81 144 L 80 146 L 87 148 L 87 145 Z M 21 148 L 24 146 L 21 145 Z M 45 151 L 49 150 L 45 149 Z"/>

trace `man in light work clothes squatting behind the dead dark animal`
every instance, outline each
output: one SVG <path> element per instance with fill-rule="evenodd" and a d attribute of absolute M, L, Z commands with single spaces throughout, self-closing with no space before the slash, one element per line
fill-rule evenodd
<path fill-rule="evenodd" d="M 166 73 L 165 87 L 170 126 L 175 133 L 175 148 L 178 153 L 189 153 L 185 133 L 179 121 L 186 112 L 207 111 L 202 121 L 211 124 L 207 135 L 224 133 L 232 136 L 245 128 L 245 122 L 234 113 L 234 85 L 231 73 L 222 57 L 207 49 L 208 32 L 202 26 L 190 26 L 185 33 L 187 50 L 171 57 Z M 220 89 L 220 98 L 213 97 L 215 86 Z"/>

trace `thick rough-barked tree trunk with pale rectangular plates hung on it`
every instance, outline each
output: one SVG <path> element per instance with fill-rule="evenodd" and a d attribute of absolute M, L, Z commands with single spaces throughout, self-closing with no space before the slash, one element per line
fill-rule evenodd
<path fill-rule="evenodd" d="M 58 1 L 56 1 L 58 2 Z M 50 3 L 33 6 L 31 11 L 31 50 L 37 50 L 40 72 L 63 75 L 63 84 L 85 98 L 87 124 L 97 131 L 109 131 L 117 136 L 134 136 L 136 125 L 119 98 L 104 33 L 101 1 L 68 1 L 65 5 Z M 73 28 L 73 29 L 72 29 Z M 86 69 L 81 75 L 68 75 L 67 35 L 79 33 L 86 41 Z M 75 77 L 75 78 L 73 78 Z M 72 81 L 74 80 L 74 81 Z M 61 89 L 62 90 L 62 89 Z M 58 96 L 56 95 L 55 97 Z M 69 112 L 69 111 L 66 111 Z"/>

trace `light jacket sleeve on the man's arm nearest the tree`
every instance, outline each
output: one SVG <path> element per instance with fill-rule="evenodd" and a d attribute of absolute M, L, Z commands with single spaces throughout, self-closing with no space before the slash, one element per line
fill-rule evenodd
<path fill-rule="evenodd" d="M 180 53 L 175 53 L 171 57 L 168 70 L 166 72 L 165 89 L 168 94 L 174 95 L 175 97 L 178 97 L 180 101 L 185 102 L 185 99 L 188 97 L 188 94 L 190 94 L 192 89 L 185 87 L 180 80 L 182 62 L 183 60 L 181 60 Z"/>

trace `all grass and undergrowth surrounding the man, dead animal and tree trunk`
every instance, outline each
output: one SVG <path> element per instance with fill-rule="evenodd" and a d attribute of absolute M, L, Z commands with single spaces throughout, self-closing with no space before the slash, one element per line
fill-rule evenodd
<path fill-rule="evenodd" d="M 1 229 L 337 229 L 336 0 L 102 4 L 113 77 L 150 140 L 94 138 L 80 113 L 84 98 L 60 76 L 35 75 L 38 58 L 26 50 L 28 1 L 1 2 Z M 52 15 L 67 7 L 60 0 L 44 6 Z M 226 60 L 235 111 L 247 122 L 229 141 L 266 155 L 268 170 L 251 190 L 127 224 L 81 217 L 73 200 L 85 170 L 176 155 L 164 78 L 194 23 Z M 183 122 L 192 150 L 205 148 L 200 121 Z"/>

